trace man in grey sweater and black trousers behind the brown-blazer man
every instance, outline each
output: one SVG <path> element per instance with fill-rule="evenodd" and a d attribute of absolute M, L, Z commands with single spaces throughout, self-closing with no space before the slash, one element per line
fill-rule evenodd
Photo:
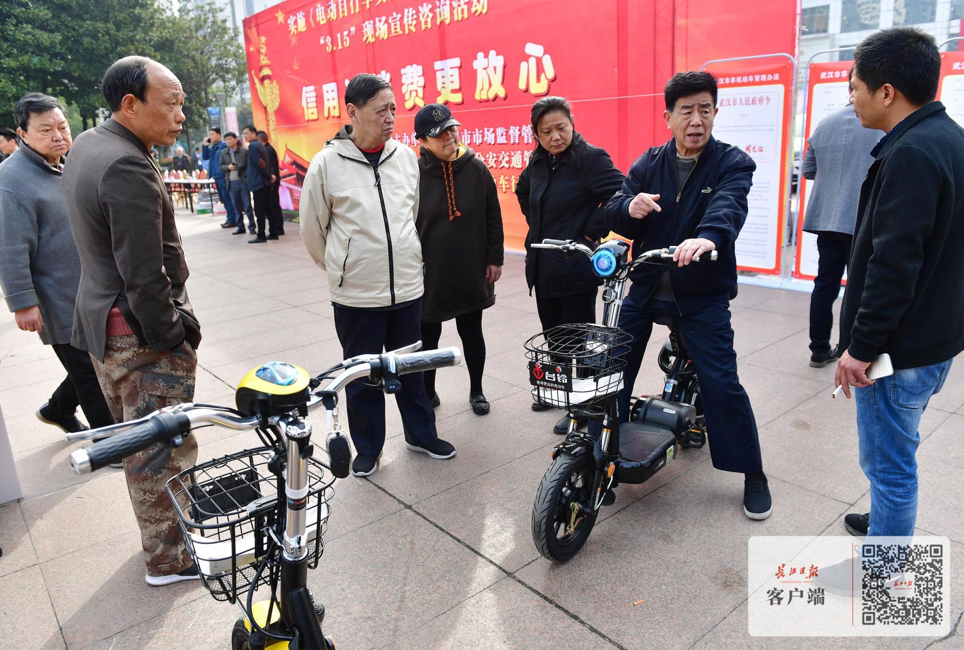
<path fill-rule="evenodd" d="M 60 101 L 24 95 L 13 109 L 23 146 L 0 167 L 0 284 L 16 325 L 53 347 L 67 378 L 37 417 L 66 432 L 114 423 L 86 352 L 70 345 L 80 257 L 67 222 L 63 166 L 70 127 Z"/>

